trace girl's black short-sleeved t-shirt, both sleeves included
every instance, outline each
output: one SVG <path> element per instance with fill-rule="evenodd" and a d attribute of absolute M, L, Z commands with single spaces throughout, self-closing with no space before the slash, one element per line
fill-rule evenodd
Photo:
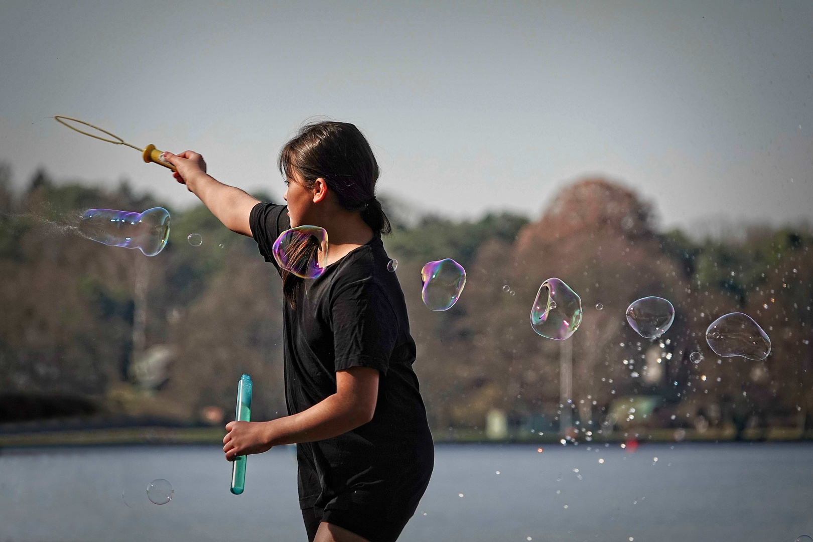
<path fill-rule="evenodd" d="M 259 203 L 251 233 L 266 262 L 277 267 L 272 245 L 290 228 L 288 208 Z M 328 240 L 329 242 L 329 240 Z M 296 308 L 284 303 L 285 401 L 296 414 L 336 392 L 336 371 L 379 371 L 372 421 L 326 440 L 297 444 L 300 506 L 329 507 L 341 493 L 392 487 L 422 469 L 431 446 L 424 401 L 412 370 L 415 340 L 398 277 L 379 235 L 303 281 Z M 279 267 L 277 267 L 279 270 Z M 428 466 L 431 471 L 431 465 Z"/>

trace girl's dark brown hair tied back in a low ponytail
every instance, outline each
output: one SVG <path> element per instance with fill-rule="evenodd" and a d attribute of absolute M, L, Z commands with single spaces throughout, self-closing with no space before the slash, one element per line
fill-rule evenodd
<path fill-rule="evenodd" d="M 376 199 L 379 176 L 376 156 L 354 124 L 332 120 L 305 124 L 280 150 L 278 166 L 286 179 L 299 178 L 306 189 L 312 189 L 315 180 L 324 179 L 339 205 L 359 211 L 374 234 L 390 232 L 389 219 Z M 298 257 L 309 258 L 315 249 L 312 244 L 298 247 Z M 295 307 L 302 279 L 283 270 L 282 284 L 285 300 Z"/>

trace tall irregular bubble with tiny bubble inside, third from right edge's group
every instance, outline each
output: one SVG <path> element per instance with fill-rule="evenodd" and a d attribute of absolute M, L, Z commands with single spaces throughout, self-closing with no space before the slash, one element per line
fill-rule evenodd
<path fill-rule="evenodd" d="M 533 331 L 548 339 L 565 340 L 581 324 L 581 298 L 557 278 L 542 283 L 531 307 Z"/>

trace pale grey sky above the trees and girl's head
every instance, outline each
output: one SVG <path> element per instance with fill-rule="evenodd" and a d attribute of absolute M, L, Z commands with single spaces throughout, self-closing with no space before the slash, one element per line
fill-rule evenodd
<path fill-rule="evenodd" d="M 43 119 L 59 114 L 279 197 L 280 145 L 328 115 L 367 133 L 381 191 L 424 210 L 537 215 L 598 174 L 667 225 L 813 219 L 813 2 L 109 3 L 0 2 L 18 184 L 44 166 L 194 202 L 135 150 Z"/>

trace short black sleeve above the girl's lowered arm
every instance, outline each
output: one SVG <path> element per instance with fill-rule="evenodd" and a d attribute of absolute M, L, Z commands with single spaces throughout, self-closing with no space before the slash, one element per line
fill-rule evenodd
<path fill-rule="evenodd" d="M 371 367 L 387 373 L 398 338 L 398 321 L 384 291 L 372 279 L 336 294 L 331 307 L 335 370 Z"/>

